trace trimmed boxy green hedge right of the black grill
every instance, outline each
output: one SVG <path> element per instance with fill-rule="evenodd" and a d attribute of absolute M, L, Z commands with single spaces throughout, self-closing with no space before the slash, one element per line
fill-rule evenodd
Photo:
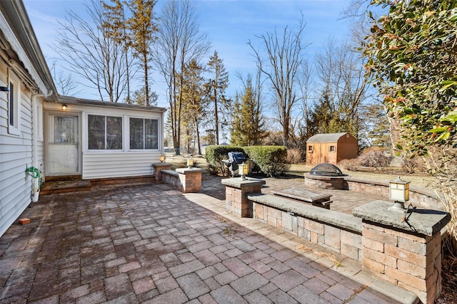
<path fill-rule="evenodd" d="M 290 169 L 287 162 L 287 148 L 283 146 L 243 147 L 248 157 L 260 167 L 268 177 L 278 177 Z"/>

